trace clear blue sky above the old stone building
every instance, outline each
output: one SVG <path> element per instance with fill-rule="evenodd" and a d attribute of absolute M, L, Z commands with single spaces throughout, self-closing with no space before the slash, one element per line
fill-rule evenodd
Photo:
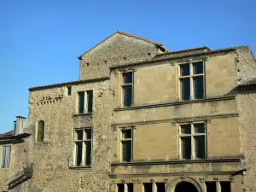
<path fill-rule="evenodd" d="M 0 132 L 28 115 L 28 88 L 79 78 L 78 55 L 117 30 L 171 50 L 249 45 L 256 1 L 1 0 Z"/>

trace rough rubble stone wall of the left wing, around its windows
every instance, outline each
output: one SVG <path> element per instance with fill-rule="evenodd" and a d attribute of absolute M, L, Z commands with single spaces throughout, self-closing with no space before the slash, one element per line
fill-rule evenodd
<path fill-rule="evenodd" d="M 93 90 L 93 113 L 76 115 L 77 92 Z M 99 191 L 108 189 L 108 154 L 111 140 L 110 118 L 113 90 L 108 81 L 35 90 L 30 95 L 28 131 L 30 159 L 33 164 L 32 191 Z M 38 120 L 44 120 L 44 142 L 36 143 Z M 93 132 L 91 169 L 72 169 L 73 129 L 90 126 Z"/>

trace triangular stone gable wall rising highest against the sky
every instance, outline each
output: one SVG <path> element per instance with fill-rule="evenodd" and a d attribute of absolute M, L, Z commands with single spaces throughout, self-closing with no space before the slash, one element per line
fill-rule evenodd
<path fill-rule="evenodd" d="M 116 33 L 82 56 L 79 79 L 108 76 L 112 65 L 147 61 L 157 53 L 162 51 L 154 44 Z"/>

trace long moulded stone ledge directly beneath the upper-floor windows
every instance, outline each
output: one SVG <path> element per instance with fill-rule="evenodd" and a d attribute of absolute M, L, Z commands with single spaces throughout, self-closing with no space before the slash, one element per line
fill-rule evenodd
<path fill-rule="evenodd" d="M 146 104 L 146 105 L 115 108 L 113 109 L 113 111 L 116 112 L 116 111 L 125 111 L 125 110 L 136 110 L 136 109 L 142 109 L 142 108 L 161 108 L 161 107 L 167 107 L 167 106 L 177 106 L 177 105 L 199 103 L 199 102 L 218 102 L 218 101 L 224 101 L 224 100 L 232 100 L 235 98 L 236 96 L 218 96 L 218 97 L 212 97 L 212 98 L 179 101 L 179 102 L 160 102 L 160 103 L 153 103 L 153 104 Z"/>

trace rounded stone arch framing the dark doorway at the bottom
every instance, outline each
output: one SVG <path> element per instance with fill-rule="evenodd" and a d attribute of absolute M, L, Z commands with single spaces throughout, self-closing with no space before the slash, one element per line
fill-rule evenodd
<path fill-rule="evenodd" d="M 202 192 L 200 184 L 197 183 L 194 178 L 190 178 L 190 177 L 177 177 L 177 178 L 175 178 L 171 183 L 168 183 L 168 185 L 166 187 L 166 192 L 174 192 L 175 188 L 177 186 L 177 183 L 181 183 L 181 182 L 191 183 L 195 186 L 195 188 L 197 189 L 198 192 Z"/>

